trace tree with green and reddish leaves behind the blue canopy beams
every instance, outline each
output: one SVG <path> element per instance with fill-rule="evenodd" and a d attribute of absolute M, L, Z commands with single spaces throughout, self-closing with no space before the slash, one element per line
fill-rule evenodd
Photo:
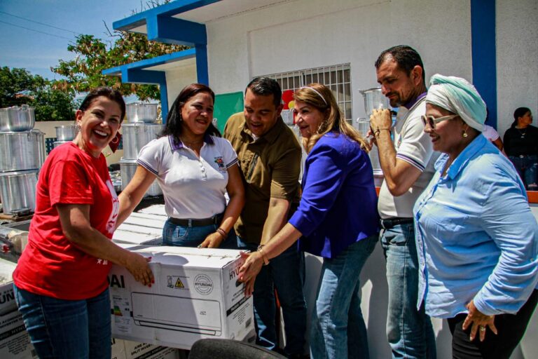
<path fill-rule="evenodd" d="M 162 4 L 168 2 L 170 1 L 163 1 Z M 146 8 L 159 5 L 161 5 L 160 1 L 156 0 L 146 2 Z M 54 88 L 71 93 L 84 93 L 97 86 L 109 86 L 120 90 L 123 95 L 135 94 L 140 100 L 160 99 L 159 88 L 156 85 L 121 83 L 117 76 L 104 76 L 102 71 L 174 53 L 187 47 L 148 41 L 145 35 L 133 32 L 108 30 L 108 34 L 111 40 L 106 43 L 92 35 L 77 36 L 76 43 L 67 47 L 67 50 L 76 54 L 74 60 L 60 60 L 57 67 L 51 68 L 51 71 L 65 78 L 56 81 Z"/>

